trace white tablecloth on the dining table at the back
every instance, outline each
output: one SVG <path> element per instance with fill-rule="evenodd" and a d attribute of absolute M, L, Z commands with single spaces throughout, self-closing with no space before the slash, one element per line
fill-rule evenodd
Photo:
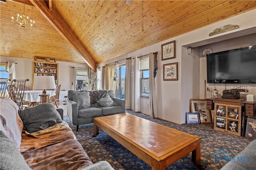
<path fill-rule="evenodd" d="M 40 94 L 42 94 L 43 90 L 26 90 L 24 91 L 23 100 L 28 102 L 40 102 Z M 55 95 L 55 91 L 53 90 L 46 90 L 47 94 L 50 94 L 49 97 Z"/>

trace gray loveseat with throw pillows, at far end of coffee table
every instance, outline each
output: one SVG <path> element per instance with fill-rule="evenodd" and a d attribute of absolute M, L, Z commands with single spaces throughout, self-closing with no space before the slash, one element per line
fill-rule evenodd
<path fill-rule="evenodd" d="M 84 93 L 85 97 L 80 95 L 80 98 L 76 97 L 76 100 L 75 100 L 74 97 L 78 96 L 78 94 L 80 93 Z M 88 93 L 88 94 L 85 94 L 85 93 Z M 116 104 L 104 107 L 104 103 L 103 103 L 103 105 L 100 106 L 100 104 L 98 104 L 100 103 L 99 99 L 104 99 L 104 98 L 107 98 L 108 96 Z M 79 109 L 78 102 L 80 102 L 81 100 L 84 100 L 84 105 L 88 105 L 88 106 L 85 108 Z M 86 104 L 86 102 L 89 102 L 89 103 Z M 120 98 L 115 98 L 115 94 L 113 90 L 97 90 L 97 91 L 68 90 L 67 113 L 73 125 L 76 125 L 76 131 L 78 131 L 79 125 L 93 123 L 94 117 L 125 113 L 125 100 Z"/>

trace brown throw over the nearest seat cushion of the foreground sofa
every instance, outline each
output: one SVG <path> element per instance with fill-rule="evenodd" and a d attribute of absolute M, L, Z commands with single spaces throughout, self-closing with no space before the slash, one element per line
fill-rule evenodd
<path fill-rule="evenodd" d="M 76 139 L 31 152 L 23 152 L 28 166 L 36 170 L 78 170 L 92 165 L 82 145 Z"/>

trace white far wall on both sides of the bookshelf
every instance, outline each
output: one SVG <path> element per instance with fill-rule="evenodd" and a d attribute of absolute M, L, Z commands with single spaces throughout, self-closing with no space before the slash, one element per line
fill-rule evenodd
<path fill-rule="evenodd" d="M 26 86 L 28 86 L 28 88 L 32 90 L 32 61 L 34 61 L 33 59 L 0 56 L 0 61 L 18 63 L 15 65 L 16 79 L 23 80 L 28 78 L 30 81 L 27 82 Z M 71 82 L 74 82 L 74 68 L 71 67 L 88 68 L 88 65 L 83 63 L 68 63 L 62 61 L 57 61 L 57 63 L 59 63 L 58 83 L 61 84 L 60 90 L 70 90 L 72 88 Z"/>

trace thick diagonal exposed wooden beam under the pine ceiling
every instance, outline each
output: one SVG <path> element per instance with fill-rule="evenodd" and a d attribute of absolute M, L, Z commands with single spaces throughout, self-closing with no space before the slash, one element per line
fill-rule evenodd
<path fill-rule="evenodd" d="M 84 46 L 80 43 L 77 37 L 72 33 L 70 28 L 64 23 L 64 21 L 58 16 L 54 10 L 50 11 L 47 4 L 42 0 L 30 0 L 30 2 L 38 8 L 41 14 L 48 20 L 54 28 L 62 35 L 66 41 L 80 54 L 84 61 L 88 64 L 92 70 L 96 71 L 96 63 L 86 51 Z"/>

